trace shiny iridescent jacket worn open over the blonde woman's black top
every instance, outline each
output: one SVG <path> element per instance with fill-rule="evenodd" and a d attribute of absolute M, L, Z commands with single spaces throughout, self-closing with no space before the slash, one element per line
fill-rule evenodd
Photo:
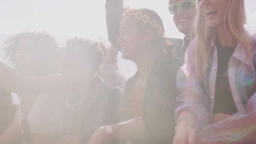
<path fill-rule="evenodd" d="M 183 110 L 195 115 L 194 128 L 199 143 L 206 141 L 242 143 L 256 140 L 256 136 L 248 135 L 256 129 L 256 37 L 251 39 L 254 42 L 251 57 L 239 43 L 229 60 L 229 85 L 238 113 L 214 124 L 211 124 L 211 120 L 217 74 L 215 39 L 211 44 L 208 72 L 200 81 L 195 77 L 196 38 L 189 44 L 185 54 L 185 64 L 179 69 L 176 79 L 180 91 L 176 99 L 176 118 Z M 241 141 L 242 138 L 245 140 Z"/>

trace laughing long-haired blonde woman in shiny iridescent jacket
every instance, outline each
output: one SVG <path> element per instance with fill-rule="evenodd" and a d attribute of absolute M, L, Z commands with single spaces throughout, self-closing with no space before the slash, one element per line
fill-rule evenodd
<path fill-rule="evenodd" d="M 244 0 L 196 4 L 196 38 L 177 75 L 173 143 L 253 143 L 256 38 L 244 28 Z"/>

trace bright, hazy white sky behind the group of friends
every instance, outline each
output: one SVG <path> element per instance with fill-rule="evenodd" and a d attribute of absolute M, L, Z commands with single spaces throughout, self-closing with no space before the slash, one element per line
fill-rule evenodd
<path fill-rule="evenodd" d="M 182 38 L 168 12 L 168 0 L 124 0 L 125 7 L 150 8 L 163 19 L 166 37 Z M 60 47 L 73 37 L 102 40 L 107 43 L 105 0 L 0 0 L 0 36 L 18 32 L 47 32 Z M 246 27 L 256 33 L 256 0 L 245 0 Z M 2 41 L 0 41 L 2 43 Z M 3 51 L 0 51 L 0 57 Z M 133 63 L 119 57 L 122 73 L 129 77 Z M 2 60 L 2 58 L 0 58 Z"/>

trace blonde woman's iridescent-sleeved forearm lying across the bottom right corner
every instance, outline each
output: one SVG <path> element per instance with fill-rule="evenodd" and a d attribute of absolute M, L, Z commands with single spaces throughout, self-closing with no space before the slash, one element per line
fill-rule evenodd
<path fill-rule="evenodd" d="M 200 141 L 237 143 L 252 141 L 256 134 L 256 113 L 237 113 L 224 120 L 207 125 L 200 132 Z"/>

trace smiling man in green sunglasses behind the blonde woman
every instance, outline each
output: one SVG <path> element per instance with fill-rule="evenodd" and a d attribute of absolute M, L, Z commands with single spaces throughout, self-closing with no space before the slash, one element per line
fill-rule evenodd
<path fill-rule="evenodd" d="M 169 0 L 169 11 L 173 15 L 173 21 L 179 30 L 183 33 L 183 46 L 174 51 L 175 56 L 184 61 L 184 54 L 190 41 L 194 38 L 192 26 L 195 20 L 196 12 L 195 0 Z"/>

